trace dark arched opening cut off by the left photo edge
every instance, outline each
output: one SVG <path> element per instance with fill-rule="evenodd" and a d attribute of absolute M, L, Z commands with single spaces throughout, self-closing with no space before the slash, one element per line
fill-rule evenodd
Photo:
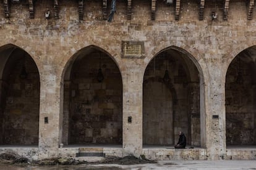
<path fill-rule="evenodd" d="M 0 103 L 0 145 L 38 145 L 38 68 L 12 44 L 0 47 Z"/>

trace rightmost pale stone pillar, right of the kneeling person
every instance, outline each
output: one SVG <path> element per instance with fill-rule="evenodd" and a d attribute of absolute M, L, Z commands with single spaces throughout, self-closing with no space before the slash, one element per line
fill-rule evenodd
<path fill-rule="evenodd" d="M 221 58 L 221 57 L 220 57 Z M 210 61 L 211 62 L 211 61 Z M 221 61 L 209 62 L 210 77 L 205 82 L 205 134 L 208 160 L 226 157 L 225 79 Z"/>

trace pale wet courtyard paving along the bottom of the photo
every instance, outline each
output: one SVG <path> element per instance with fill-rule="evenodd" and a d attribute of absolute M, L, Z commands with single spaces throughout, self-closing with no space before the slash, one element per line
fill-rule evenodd
<path fill-rule="evenodd" d="M 0 169 L 256 169 L 256 160 L 252 161 L 159 161 L 156 164 L 86 164 L 81 166 L 13 166 L 0 165 Z"/>

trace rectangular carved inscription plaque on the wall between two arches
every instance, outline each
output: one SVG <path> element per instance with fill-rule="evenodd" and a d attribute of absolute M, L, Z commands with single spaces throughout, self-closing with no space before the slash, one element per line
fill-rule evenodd
<path fill-rule="evenodd" d="M 144 58 L 144 42 L 122 41 L 122 58 Z"/>

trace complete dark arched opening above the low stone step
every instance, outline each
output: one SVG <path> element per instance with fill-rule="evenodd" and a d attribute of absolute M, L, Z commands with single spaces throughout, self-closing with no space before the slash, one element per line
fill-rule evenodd
<path fill-rule="evenodd" d="M 62 143 L 122 144 L 122 78 L 113 59 L 89 46 L 64 73 Z"/>

